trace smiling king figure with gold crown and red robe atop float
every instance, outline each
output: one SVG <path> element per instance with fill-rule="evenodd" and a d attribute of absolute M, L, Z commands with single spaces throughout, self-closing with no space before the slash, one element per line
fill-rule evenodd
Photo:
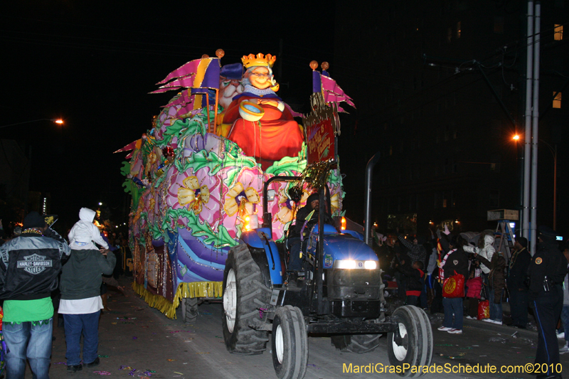
<path fill-rule="evenodd" d="M 246 70 L 245 89 L 233 97 L 223 117 L 222 130 L 225 129 L 227 138 L 246 155 L 255 157 L 263 170 L 285 156 L 298 156 L 304 141 L 289 108 L 275 93 L 278 84 L 272 65 L 276 59 L 262 53 L 241 58 Z"/>

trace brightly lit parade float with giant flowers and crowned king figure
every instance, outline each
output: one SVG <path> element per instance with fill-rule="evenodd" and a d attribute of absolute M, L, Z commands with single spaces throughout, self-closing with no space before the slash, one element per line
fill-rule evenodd
<path fill-rule="evenodd" d="M 307 130 L 310 116 L 277 95 L 275 56 L 244 55 L 241 63 L 223 65 L 223 55 L 217 50 L 216 58 L 191 60 L 159 82 L 151 93 L 176 95 L 142 138 L 119 149 L 130 151 L 122 174 L 132 196 L 134 290 L 169 318 L 184 303 L 186 321 L 195 321 L 198 299 L 221 297 L 225 260 L 245 230 L 267 223 L 269 215 L 272 238 L 282 240 L 312 188 L 309 181 L 272 181 L 265 199 L 264 183 L 274 176 L 308 177 L 318 162 L 337 162 L 334 119 L 343 112 L 341 102 L 353 106 L 326 72 L 328 64 L 319 71 L 311 62 L 314 99 L 329 110 L 330 122 L 327 129 Z M 306 76 L 311 79 L 308 66 Z M 309 156 L 314 164 L 307 164 Z M 339 216 L 344 191 L 334 167 L 325 181 L 331 214 Z"/>

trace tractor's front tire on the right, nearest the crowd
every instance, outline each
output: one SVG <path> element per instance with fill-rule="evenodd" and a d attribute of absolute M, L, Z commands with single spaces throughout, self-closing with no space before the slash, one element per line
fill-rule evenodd
<path fill-rule="evenodd" d="M 400 376 L 418 378 L 422 371 L 412 372 L 414 366 L 430 365 L 432 360 L 432 329 L 425 311 L 406 305 L 395 309 L 391 317 L 398 324 L 398 330 L 388 333 L 388 358 L 390 365 L 408 370 L 398 372 Z"/>

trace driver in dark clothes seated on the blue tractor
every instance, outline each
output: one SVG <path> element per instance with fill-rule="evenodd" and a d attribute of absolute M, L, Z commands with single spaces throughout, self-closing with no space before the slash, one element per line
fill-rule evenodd
<path fill-rule="evenodd" d="M 306 247 L 306 241 L 308 240 L 307 237 L 310 234 L 310 229 L 312 228 L 312 225 L 318 223 L 319 208 L 320 201 L 318 193 L 312 193 L 312 195 L 310 195 L 307 199 L 307 205 L 304 205 L 304 207 L 298 210 L 297 222 L 292 227 L 292 230 L 290 230 L 288 237 L 290 258 L 287 271 L 289 272 L 302 271 L 302 257 L 300 256 L 300 248 L 301 245 L 303 247 Z M 328 212 L 324 212 L 324 223 L 334 225 L 334 220 L 332 220 Z M 301 235 L 303 236 L 304 241 L 301 241 Z"/>

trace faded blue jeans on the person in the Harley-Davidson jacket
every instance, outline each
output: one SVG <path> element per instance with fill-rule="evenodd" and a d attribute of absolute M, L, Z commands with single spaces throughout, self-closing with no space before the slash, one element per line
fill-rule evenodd
<path fill-rule="evenodd" d="M 31 321 L 21 324 L 6 322 L 2 328 L 9 351 L 6 354 L 6 378 L 23 379 L 27 357 L 33 379 L 49 379 L 53 319 L 41 325 L 32 325 Z"/>

